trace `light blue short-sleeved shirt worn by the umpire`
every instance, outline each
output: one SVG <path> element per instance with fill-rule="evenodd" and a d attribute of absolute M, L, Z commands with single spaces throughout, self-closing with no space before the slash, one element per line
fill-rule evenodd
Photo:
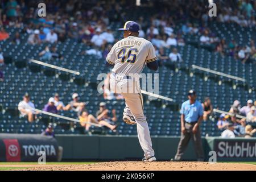
<path fill-rule="evenodd" d="M 197 122 L 199 117 L 204 114 L 203 106 L 197 100 L 194 104 L 190 104 L 189 100 L 185 101 L 181 105 L 180 114 L 184 114 L 185 122 Z"/>

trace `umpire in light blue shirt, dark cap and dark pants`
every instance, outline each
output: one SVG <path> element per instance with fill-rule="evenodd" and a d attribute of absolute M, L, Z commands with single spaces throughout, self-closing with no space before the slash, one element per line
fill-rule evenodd
<path fill-rule="evenodd" d="M 204 161 L 204 152 L 201 142 L 200 123 L 203 119 L 203 106 L 196 100 L 196 92 L 189 90 L 188 101 L 181 105 L 181 137 L 174 161 L 180 161 L 188 146 L 190 138 L 193 140 L 197 161 Z"/>

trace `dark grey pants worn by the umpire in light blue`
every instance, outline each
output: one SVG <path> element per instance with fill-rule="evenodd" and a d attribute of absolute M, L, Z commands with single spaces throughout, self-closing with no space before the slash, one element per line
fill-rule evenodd
<path fill-rule="evenodd" d="M 177 147 L 177 153 L 175 160 L 181 160 L 181 156 L 184 154 L 185 149 L 188 146 L 189 140 L 192 138 L 193 146 L 195 147 L 197 161 L 204 161 L 204 151 L 201 141 L 200 127 L 197 129 L 196 134 L 193 134 L 193 127 L 196 122 L 187 123 L 185 122 L 185 134 L 181 132 L 179 146 Z"/>

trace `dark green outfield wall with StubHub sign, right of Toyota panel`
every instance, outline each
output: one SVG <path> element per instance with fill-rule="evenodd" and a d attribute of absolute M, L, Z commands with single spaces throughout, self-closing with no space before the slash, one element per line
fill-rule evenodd
<path fill-rule="evenodd" d="M 121 136 L 57 135 L 63 146 L 63 160 L 140 160 L 143 151 L 138 138 Z M 209 151 L 216 151 L 217 161 L 256 161 L 256 138 L 220 139 L 203 138 L 205 160 Z M 158 160 L 174 158 L 179 137 L 152 137 Z M 183 156 L 184 160 L 196 160 L 192 141 Z"/>

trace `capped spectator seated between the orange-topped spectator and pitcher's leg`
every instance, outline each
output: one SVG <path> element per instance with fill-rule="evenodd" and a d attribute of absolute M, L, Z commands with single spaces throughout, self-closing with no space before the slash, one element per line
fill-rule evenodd
<path fill-rule="evenodd" d="M 114 124 L 117 121 L 117 115 L 115 114 L 115 110 L 112 110 L 113 117 L 109 117 L 109 110 L 106 109 L 106 103 L 100 103 L 100 110 L 97 111 L 96 117 L 98 121 L 106 121 L 110 124 Z"/>

